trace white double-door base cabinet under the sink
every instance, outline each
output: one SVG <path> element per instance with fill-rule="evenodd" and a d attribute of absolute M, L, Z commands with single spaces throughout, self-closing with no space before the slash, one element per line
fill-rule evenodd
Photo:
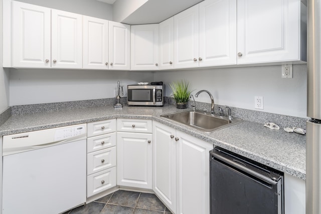
<path fill-rule="evenodd" d="M 153 122 L 153 190 L 174 213 L 210 212 L 211 143 Z"/>

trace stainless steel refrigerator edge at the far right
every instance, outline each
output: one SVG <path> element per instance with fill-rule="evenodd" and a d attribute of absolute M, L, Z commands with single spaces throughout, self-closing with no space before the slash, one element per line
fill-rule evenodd
<path fill-rule="evenodd" d="M 321 1 L 307 2 L 306 213 L 321 213 Z"/>

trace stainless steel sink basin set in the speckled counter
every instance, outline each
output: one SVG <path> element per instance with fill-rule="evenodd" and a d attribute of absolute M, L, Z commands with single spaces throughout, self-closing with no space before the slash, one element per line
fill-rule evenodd
<path fill-rule="evenodd" d="M 243 121 L 239 119 L 229 120 L 227 117 L 219 117 L 202 111 L 175 112 L 161 115 L 161 117 L 183 123 L 204 132 L 216 131 Z"/>

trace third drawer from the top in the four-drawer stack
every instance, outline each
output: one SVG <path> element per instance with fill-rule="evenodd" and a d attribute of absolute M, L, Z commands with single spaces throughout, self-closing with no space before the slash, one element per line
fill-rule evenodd
<path fill-rule="evenodd" d="M 116 166 L 116 146 L 87 154 L 87 175 Z"/>

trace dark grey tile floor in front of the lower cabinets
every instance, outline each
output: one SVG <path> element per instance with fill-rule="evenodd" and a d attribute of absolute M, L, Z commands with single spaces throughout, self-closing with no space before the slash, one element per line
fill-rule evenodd
<path fill-rule="evenodd" d="M 154 194 L 118 190 L 64 214 L 171 214 Z"/>

